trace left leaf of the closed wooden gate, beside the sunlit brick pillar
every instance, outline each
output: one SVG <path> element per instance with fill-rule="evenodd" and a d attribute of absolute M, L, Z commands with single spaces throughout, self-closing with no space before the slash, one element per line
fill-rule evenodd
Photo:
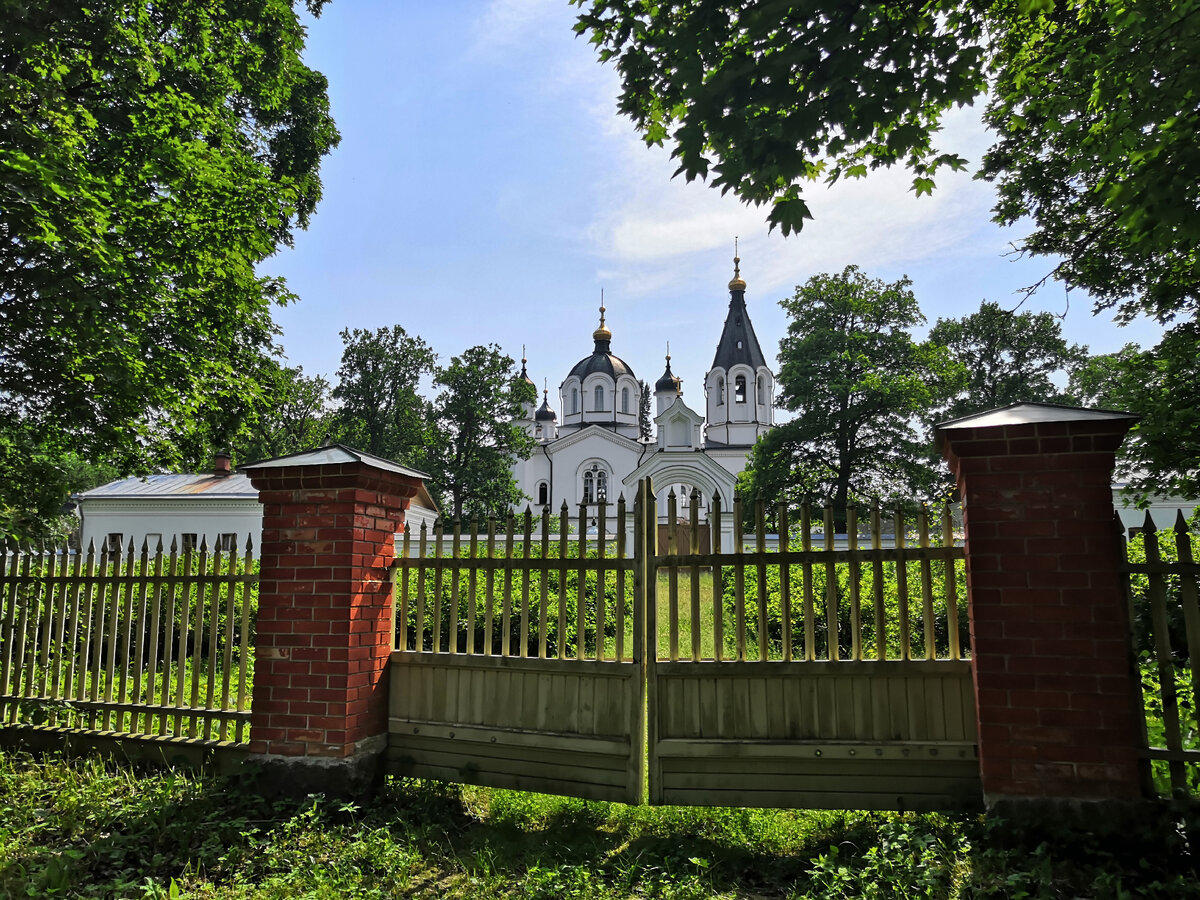
<path fill-rule="evenodd" d="M 588 510 L 572 523 L 565 504 L 554 539 L 548 512 L 534 539 L 528 511 L 521 540 L 510 516 L 499 547 L 494 520 L 486 542 L 478 523 L 466 540 L 436 526 L 432 544 L 422 527 L 415 556 L 406 535 L 390 773 L 640 802 L 644 592 L 628 523 L 622 499 L 612 540 L 602 506 L 589 534 Z"/>

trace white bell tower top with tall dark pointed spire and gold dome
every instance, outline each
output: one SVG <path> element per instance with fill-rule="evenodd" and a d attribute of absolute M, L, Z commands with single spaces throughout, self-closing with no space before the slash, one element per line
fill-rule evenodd
<path fill-rule="evenodd" d="M 730 310 L 704 379 L 708 443 L 730 446 L 754 444 L 775 421 L 775 376 L 750 323 L 740 263 L 733 257 Z"/>

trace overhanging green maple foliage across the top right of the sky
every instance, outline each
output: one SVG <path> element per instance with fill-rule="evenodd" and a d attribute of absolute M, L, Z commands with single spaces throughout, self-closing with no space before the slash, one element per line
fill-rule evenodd
<path fill-rule="evenodd" d="M 982 175 L 997 221 L 1031 217 L 1019 250 L 1123 314 L 1196 310 L 1200 0 L 572 2 L 646 142 L 784 234 L 808 180 L 902 164 L 919 196 L 965 167 L 934 138 L 992 82 Z"/>

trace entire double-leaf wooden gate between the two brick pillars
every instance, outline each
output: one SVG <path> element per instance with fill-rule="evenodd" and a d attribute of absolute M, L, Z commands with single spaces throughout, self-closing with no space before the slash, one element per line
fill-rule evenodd
<path fill-rule="evenodd" d="M 692 522 L 690 552 L 656 554 L 653 498 L 647 480 L 631 516 L 619 503 L 612 536 L 602 508 L 569 535 L 564 506 L 554 539 L 528 512 L 499 548 L 494 523 L 486 547 L 406 539 L 390 772 L 630 803 L 648 785 L 655 804 L 979 804 L 948 515 L 940 546 L 924 511 L 908 546 L 904 514 L 884 535 L 872 510 L 859 547 L 854 511 L 838 539 L 827 508 L 814 548 L 804 506 L 799 548 L 767 552 L 760 506 L 746 552 L 736 503 L 732 547 L 701 553 Z M 720 534 L 718 498 L 712 515 Z"/>

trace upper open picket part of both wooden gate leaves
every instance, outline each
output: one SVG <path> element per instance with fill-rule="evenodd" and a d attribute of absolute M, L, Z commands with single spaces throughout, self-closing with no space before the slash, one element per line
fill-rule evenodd
<path fill-rule="evenodd" d="M 677 521 L 677 498 L 667 520 Z M 767 506 L 744 534 L 743 500 L 713 498 L 708 534 L 721 524 L 725 550 L 700 546 L 690 504 L 690 547 L 666 534 L 654 557 L 661 659 L 965 659 L 964 550 L 953 516 L 917 506 L 851 508 L 835 534 L 830 505 L 769 512 L 790 541 L 770 548 Z M 397 570 L 396 648 L 415 652 L 628 660 L 632 652 L 632 511 L 564 503 L 557 515 L 526 509 L 503 523 L 406 529 Z M 748 548 L 749 547 L 751 548 Z"/>

